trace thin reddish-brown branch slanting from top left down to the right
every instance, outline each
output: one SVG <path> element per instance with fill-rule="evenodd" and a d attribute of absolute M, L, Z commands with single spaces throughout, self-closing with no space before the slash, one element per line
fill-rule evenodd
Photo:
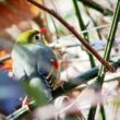
<path fill-rule="evenodd" d="M 99 55 L 98 52 L 91 47 L 91 45 L 74 29 L 73 26 L 71 26 L 67 21 L 64 21 L 60 15 L 58 15 L 53 10 L 50 10 L 44 5 L 41 5 L 40 3 L 37 3 L 34 0 L 27 0 L 28 2 L 31 2 L 32 4 L 36 5 L 37 8 L 46 11 L 47 13 L 51 14 L 52 16 L 55 16 L 59 22 L 61 22 L 83 45 L 84 47 L 92 52 L 101 63 L 103 65 L 105 65 L 107 68 L 107 70 L 109 70 L 110 72 L 115 72 L 115 68 L 109 65 L 107 61 L 105 61 Z"/>

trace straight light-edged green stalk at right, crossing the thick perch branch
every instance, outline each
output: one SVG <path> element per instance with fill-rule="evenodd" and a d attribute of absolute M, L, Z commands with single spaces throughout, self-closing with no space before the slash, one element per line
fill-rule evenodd
<path fill-rule="evenodd" d="M 106 61 L 109 61 L 109 58 L 110 58 L 110 52 L 111 52 L 111 48 L 113 45 L 118 22 L 119 22 L 119 15 L 120 15 L 120 0 L 118 0 L 118 3 L 117 3 L 116 12 L 113 15 L 111 28 L 110 28 L 108 40 L 107 40 L 108 43 L 105 48 L 104 58 Z M 105 68 L 104 68 L 104 65 L 101 65 L 99 72 L 98 72 L 98 77 L 97 77 L 97 83 L 100 85 L 100 87 L 103 85 L 104 77 L 105 77 Z"/>

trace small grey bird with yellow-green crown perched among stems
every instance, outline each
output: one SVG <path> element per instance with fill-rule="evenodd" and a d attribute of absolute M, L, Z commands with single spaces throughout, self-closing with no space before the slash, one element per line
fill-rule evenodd
<path fill-rule="evenodd" d="M 12 50 L 12 60 L 13 73 L 19 81 L 28 82 L 29 86 L 50 96 L 60 79 L 59 64 L 38 31 L 29 29 L 20 35 Z"/>

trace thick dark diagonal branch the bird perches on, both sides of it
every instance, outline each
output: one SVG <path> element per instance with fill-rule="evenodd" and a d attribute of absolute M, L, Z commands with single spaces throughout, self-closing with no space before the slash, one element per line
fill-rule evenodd
<path fill-rule="evenodd" d="M 120 60 L 118 60 L 117 62 L 113 62 L 112 65 L 120 68 Z M 98 70 L 99 70 L 99 68 L 97 68 L 97 67 L 94 69 L 91 69 L 89 71 L 86 71 L 86 72 L 80 74 L 79 76 L 74 77 L 73 80 L 69 81 L 68 83 L 65 83 L 63 85 L 63 87 L 58 87 L 57 89 L 52 91 L 53 99 L 59 97 L 62 94 L 65 94 L 70 91 L 72 91 L 76 86 L 82 85 L 83 83 L 87 83 L 92 79 L 96 77 L 98 74 Z M 111 81 L 111 80 L 108 80 L 108 81 Z M 34 109 L 36 109 L 37 108 L 36 101 L 32 100 L 28 104 L 28 107 L 31 108 L 32 111 Z M 14 119 L 20 120 L 20 118 L 23 117 L 25 112 L 28 113 L 29 111 L 28 111 L 27 107 L 23 106 L 22 108 L 17 109 L 16 111 L 14 111 L 10 116 L 8 116 L 7 120 L 14 120 Z"/>

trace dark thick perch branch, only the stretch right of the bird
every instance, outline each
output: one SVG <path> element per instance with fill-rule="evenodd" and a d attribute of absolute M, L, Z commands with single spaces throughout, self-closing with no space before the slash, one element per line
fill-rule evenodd
<path fill-rule="evenodd" d="M 120 59 L 113 62 L 112 65 L 115 68 L 120 68 Z M 99 71 L 99 68 L 96 67 L 94 69 L 91 69 L 89 71 L 84 72 L 83 74 L 80 74 L 79 76 L 72 79 L 71 81 L 64 83 L 62 87 L 58 87 L 57 89 L 52 91 L 53 98 L 72 91 L 79 85 L 87 83 L 89 80 L 97 76 L 98 71 Z"/>

